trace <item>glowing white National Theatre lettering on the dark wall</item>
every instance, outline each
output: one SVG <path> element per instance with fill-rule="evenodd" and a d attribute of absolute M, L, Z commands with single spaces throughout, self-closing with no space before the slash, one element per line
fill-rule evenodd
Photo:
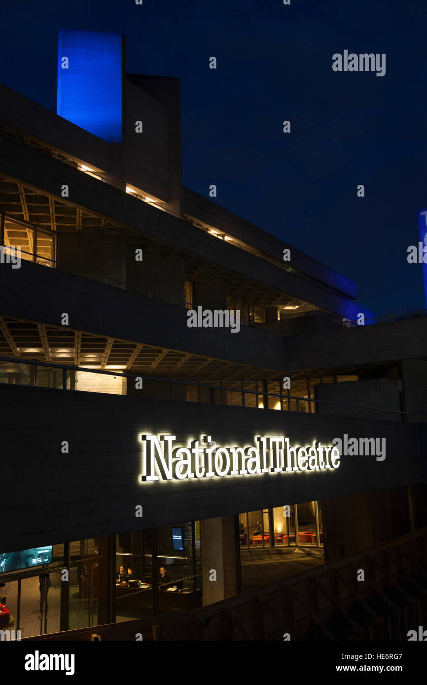
<path fill-rule="evenodd" d="M 339 449 L 334 445 L 299 447 L 289 438 L 256 436 L 251 447 L 212 447 L 210 436 L 188 440 L 188 447 L 174 446 L 174 435 L 141 435 L 144 443 L 144 482 L 225 476 L 325 471 L 338 469 Z"/>

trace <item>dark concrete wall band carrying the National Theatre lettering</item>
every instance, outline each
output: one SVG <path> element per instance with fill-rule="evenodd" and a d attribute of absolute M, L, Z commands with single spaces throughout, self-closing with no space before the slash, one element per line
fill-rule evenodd
<path fill-rule="evenodd" d="M 0 551 L 382 490 L 426 475 L 425 425 L 8 385 L 0 386 L 0 407 Z M 253 445 L 257 434 L 330 445 L 347 433 L 386 438 L 387 456 L 343 457 L 335 471 L 149 483 L 139 479 L 143 433 L 173 433 L 183 444 L 209 434 L 222 447 Z"/>

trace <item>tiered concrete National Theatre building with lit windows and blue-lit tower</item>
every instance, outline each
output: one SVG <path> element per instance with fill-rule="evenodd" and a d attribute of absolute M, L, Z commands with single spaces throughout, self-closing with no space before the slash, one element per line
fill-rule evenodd
<path fill-rule="evenodd" d="M 127 74 L 122 36 L 61 32 L 58 114 L 0 86 L 0 222 L 0 579 L 24 637 L 427 525 L 426 316 L 377 321 L 184 187 L 180 82 Z"/>

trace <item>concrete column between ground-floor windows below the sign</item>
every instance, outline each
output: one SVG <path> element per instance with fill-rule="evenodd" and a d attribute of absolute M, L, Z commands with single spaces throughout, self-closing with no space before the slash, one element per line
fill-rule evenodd
<path fill-rule="evenodd" d="M 238 556 L 234 516 L 200 521 L 202 541 L 203 603 L 212 604 L 239 592 Z M 217 580 L 209 580 L 216 571 Z"/>

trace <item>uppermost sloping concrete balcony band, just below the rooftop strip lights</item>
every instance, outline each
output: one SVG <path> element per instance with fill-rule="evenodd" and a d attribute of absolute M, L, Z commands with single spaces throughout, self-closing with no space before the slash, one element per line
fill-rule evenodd
<path fill-rule="evenodd" d="M 74 206 L 106 216 L 146 237 L 160 240 L 183 253 L 197 255 L 211 264 L 223 266 L 291 297 L 299 297 L 328 312 L 355 319 L 358 312 L 365 311 L 360 305 L 322 288 L 320 284 L 279 269 L 275 264 L 260 260 L 227 241 L 217 240 L 215 236 L 186 221 L 103 184 L 67 164 L 44 157 L 1 133 L 0 171 L 20 179 L 27 186 L 36 186 L 40 192 L 54 195 L 60 201 L 61 186 L 67 184 L 70 189 L 69 201 Z"/>

